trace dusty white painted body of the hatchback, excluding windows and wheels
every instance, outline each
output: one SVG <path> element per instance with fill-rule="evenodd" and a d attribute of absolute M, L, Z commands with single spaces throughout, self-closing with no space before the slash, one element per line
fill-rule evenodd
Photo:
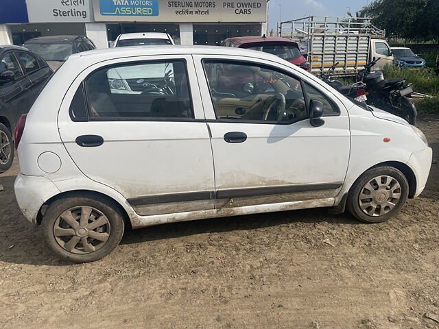
<path fill-rule="evenodd" d="M 282 127 L 213 122 L 209 123 L 212 131 L 210 139 L 207 125 L 202 120 L 215 119 L 215 113 L 201 59 L 217 57 L 258 62 L 296 75 L 331 97 L 340 107 L 341 115 L 325 117 L 322 127 L 312 127 L 309 121 Z M 71 121 L 69 106 L 73 95 L 95 69 L 139 60 L 176 58 L 187 60 L 195 119 L 200 121 Z M 254 141 L 250 138 L 251 143 L 239 145 L 240 151 L 230 149 L 227 143 L 219 142 L 221 135 L 232 129 L 246 129 L 251 138 L 257 138 Z M 75 138 L 82 134 L 98 134 L 106 142 L 102 147 L 78 147 Z M 295 134 L 300 134 L 302 143 L 294 140 Z M 267 136 L 273 138 L 274 143 L 268 143 Z M 391 138 L 391 143 L 383 143 L 384 137 Z M 313 152 L 309 151 L 310 147 Z M 47 151 L 61 160 L 62 166 L 55 173 L 45 173 L 36 166 L 40 154 Z M 133 227 L 333 206 L 340 202 L 342 195 L 361 173 L 385 161 L 406 163 L 412 168 L 418 195 L 425 186 L 431 165 L 431 149 L 401 119 L 354 106 L 327 84 L 276 56 L 226 47 L 133 47 L 71 56 L 52 77 L 29 112 L 18 153 L 22 174 L 16 180 L 16 196 L 29 221 L 35 223 L 40 206 L 50 197 L 66 191 L 88 190 L 108 195 L 118 202 L 128 213 Z M 242 166 L 240 163 L 249 157 L 251 160 L 252 154 L 259 154 L 259 157 Z M 315 166 L 316 163 L 318 166 Z M 238 170 L 239 175 L 236 174 Z M 316 194 L 313 200 L 309 199 L 309 195 L 306 201 L 285 202 L 279 199 L 274 204 L 265 199 L 267 204 L 223 209 L 213 209 L 213 203 L 208 203 L 205 210 L 199 210 L 198 203 L 196 207 L 193 205 L 194 211 L 188 211 L 186 207 L 175 208 L 166 215 L 139 216 L 127 202 L 130 197 L 213 191 L 215 187 L 322 182 L 344 184 L 335 192 L 337 195 Z M 261 200 L 264 202 L 264 198 Z"/>

